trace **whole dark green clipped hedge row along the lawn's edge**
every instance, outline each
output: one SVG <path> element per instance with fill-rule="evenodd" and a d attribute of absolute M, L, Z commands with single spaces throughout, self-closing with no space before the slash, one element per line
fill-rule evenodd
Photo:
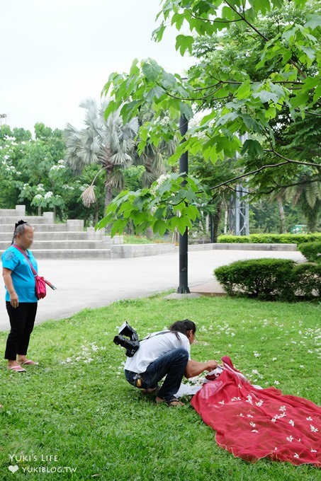
<path fill-rule="evenodd" d="M 230 296 L 293 301 L 321 295 L 321 265 L 288 259 L 237 260 L 214 271 Z"/>

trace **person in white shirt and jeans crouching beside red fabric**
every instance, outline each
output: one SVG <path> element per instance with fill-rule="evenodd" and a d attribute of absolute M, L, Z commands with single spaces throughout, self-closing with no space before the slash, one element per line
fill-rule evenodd
<path fill-rule="evenodd" d="M 128 383 L 145 390 L 157 391 L 156 402 L 169 406 L 183 405 L 175 398 L 183 376 L 192 378 L 203 371 L 212 371 L 217 361 L 198 362 L 190 357 L 190 347 L 195 340 L 196 325 L 192 320 L 178 320 L 169 330 L 154 332 L 140 341 L 140 348 L 125 363 Z"/>

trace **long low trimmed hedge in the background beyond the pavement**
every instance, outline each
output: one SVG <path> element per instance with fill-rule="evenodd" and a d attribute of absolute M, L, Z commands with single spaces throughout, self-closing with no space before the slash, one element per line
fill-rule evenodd
<path fill-rule="evenodd" d="M 249 236 L 219 236 L 219 243 L 242 244 L 302 244 L 321 242 L 321 233 L 314 234 L 250 234 Z"/>

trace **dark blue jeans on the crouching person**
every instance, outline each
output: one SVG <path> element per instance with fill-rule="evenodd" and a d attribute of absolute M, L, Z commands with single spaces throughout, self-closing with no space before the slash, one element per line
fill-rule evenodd
<path fill-rule="evenodd" d="M 147 366 L 145 373 L 140 375 L 142 379 L 140 388 L 156 388 L 158 382 L 166 376 L 158 391 L 158 396 L 166 401 L 171 400 L 181 386 L 187 363 L 188 352 L 186 349 L 174 349 L 164 354 Z M 136 386 L 135 376 L 136 373 L 133 371 L 125 370 L 125 377 L 132 386 Z"/>

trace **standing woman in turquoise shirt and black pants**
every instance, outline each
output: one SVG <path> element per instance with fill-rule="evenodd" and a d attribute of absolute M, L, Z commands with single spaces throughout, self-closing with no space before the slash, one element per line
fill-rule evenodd
<path fill-rule="evenodd" d="M 35 257 L 28 250 L 32 243 L 33 227 L 25 221 L 18 221 L 15 225 L 12 245 L 1 257 L 2 275 L 6 286 L 6 310 L 11 325 L 4 358 L 8 360 L 7 369 L 15 372 L 26 372 L 23 366 L 38 364 L 27 359 L 30 334 L 33 332 L 38 306 L 35 278 L 25 257 L 25 255 L 28 256 L 37 271 Z"/>

